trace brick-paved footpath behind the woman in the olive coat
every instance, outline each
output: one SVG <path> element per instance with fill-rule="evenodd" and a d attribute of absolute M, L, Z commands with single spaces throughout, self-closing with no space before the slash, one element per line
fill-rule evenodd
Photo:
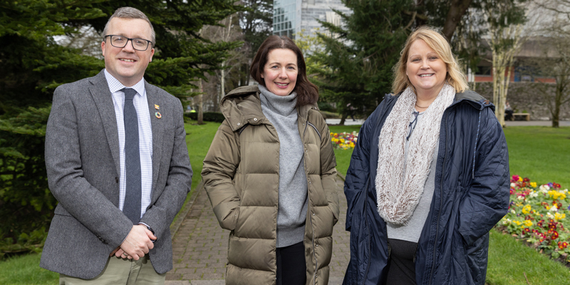
<path fill-rule="evenodd" d="M 333 229 L 333 257 L 329 285 L 342 284 L 350 259 L 349 233 L 344 230 L 346 197 L 344 181 L 337 177 L 341 217 Z M 204 187 L 172 239 L 174 269 L 166 274 L 165 285 L 224 285 L 229 231 L 219 227 Z"/>

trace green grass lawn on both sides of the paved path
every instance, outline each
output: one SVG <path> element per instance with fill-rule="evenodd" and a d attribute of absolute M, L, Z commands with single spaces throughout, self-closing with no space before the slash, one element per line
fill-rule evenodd
<path fill-rule="evenodd" d="M 186 142 L 194 170 L 192 190 L 201 180 L 202 160 L 219 123 L 186 124 Z M 358 132 L 360 126 L 331 126 L 331 132 Z M 511 174 L 529 177 L 538 183 L 558 182 L 570 187 L 570 128 L 509 127 L 505 129 L 509 145 Z M 335 150 L 337 170 L 346 174 L 351 150 Z M 189 195 L 190 196 L 190 195 Z M 0 261 L 0 284 L 57 284 L 58 274 L 40 269 L 40 256 L 30 254 Z M 527 279 L 524 275 L 526 274 Z M 491 232 L 487 284 L 569 284 L 569 268 L 524 246 L 514 238 Z"/>

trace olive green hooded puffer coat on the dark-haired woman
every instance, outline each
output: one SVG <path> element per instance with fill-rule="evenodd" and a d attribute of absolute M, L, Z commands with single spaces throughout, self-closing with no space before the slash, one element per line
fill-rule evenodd
<path fill-rule="evenodd" d="M 276 283 L 279 138 L 261 111 L 259 90 L 232 90 L 220 103 L 226 120 L 204 159 L 202 178 L 219 225 L 229 229 L 226 284 Z M 309 208 L 305 224 L 306 284 L 328 284 L 333 225 L 338 220 L 336 160 L 316 106 L 299 112 Z"/>

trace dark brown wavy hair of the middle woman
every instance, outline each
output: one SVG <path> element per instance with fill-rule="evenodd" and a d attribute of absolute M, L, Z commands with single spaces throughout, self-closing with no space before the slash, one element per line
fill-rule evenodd
<path fill-rule="evenodd" d="M 254 61 L 252 62 L 252 67 L 249 68 L 249 74 L 254 78 L 257 83 L 265 86 L 265 81 L 261 78 L 261 73 L 263 73 L 263 68 L 267 63 L 267 56 L 269 51 L 276 48 L 286 48 L 293 51 L 297 56 L 297 81 L 293 91 L 297 93 L 297 107 L 307 104 L 316 104 L 318 100 L 318 87 L 313 83 L 309 82 L 307 78 L 307 68 L 305 65 L 305 58 L 301 49 L 286 36 L 269 36 L 265 39 L 259 50 L 255 54 Z"/>

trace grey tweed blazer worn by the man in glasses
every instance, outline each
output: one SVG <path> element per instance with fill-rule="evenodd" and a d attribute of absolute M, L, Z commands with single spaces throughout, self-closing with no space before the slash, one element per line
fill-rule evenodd
<path fill-rule="evenodd" d="M 180 100 L 145 81 L 152 126 L 152 195 L 140 222 L 157 236 L 150 261 L 159 274 L 172 269 L 170 223 L 192 182 Z M 155 104 L 162 118 L 155 116 Z M 118 208 L 119 138 L 105 74 L 59 86 L 46 129 L 49 188 L 58 206 L 40 266 L 91 279 L 133 223 Z"/>

